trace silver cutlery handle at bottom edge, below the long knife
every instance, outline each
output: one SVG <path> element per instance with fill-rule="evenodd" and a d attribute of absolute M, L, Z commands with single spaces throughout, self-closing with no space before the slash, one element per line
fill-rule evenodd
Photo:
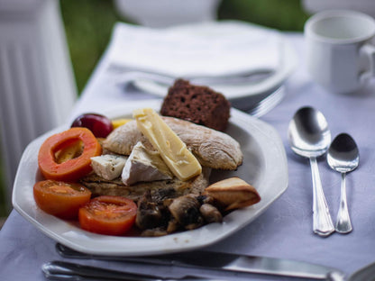
<path fill-rule="evenodd" d="M 125 271 L 117 271 L 106 269 L 102 267 L 89 267 L 70 263 L 66 261 L 50 261 L 41 266 L 44 276 L 48 280 L 125 280 L 125 281 L 180 281 L 180 280 L 194 280 L 194 281 L 220 281 L 215 278 L 206 278 L 200 276 L 182 276 L 173 278 L 163 278 L 158 276 L 150 276 L 139 273 L 131 273 Z M 221 281 L 224 281 L 221 279 Z"/>

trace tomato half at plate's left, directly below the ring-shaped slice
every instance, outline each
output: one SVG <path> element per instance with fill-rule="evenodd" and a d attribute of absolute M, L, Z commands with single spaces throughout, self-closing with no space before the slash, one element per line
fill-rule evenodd
<path fill-rule="evenodd" d="M 61 219 L 78 217 L 78 210 L 90 201 L 91 192 L 76 183 L 42 180 L 33 187 L 36 204 L 46 213 Z"/>

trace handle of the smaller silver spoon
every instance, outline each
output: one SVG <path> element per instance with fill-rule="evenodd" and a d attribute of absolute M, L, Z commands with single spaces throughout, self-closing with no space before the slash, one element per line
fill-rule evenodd
<path fill-rule="evenodd" d="M 340 195 L 340 208 L 337 213 L 337 220 L 335 229 L 340 233 L 349 233 L 352 231 L 352 222 L 349 216 L 348 204 L 346 202 L 346 173 L 341 174 L 341 195 Z"/>

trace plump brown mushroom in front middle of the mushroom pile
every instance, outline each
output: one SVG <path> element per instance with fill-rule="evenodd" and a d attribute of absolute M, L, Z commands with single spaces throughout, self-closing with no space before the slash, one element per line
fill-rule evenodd
<path fill-rule="evenodd" d="M 196 229 L 204 222 L 200 212 L 200 204 L 194 195 L 180 196 L 169 204 L 169 212 L 176 221 L 188 230 Z"/>

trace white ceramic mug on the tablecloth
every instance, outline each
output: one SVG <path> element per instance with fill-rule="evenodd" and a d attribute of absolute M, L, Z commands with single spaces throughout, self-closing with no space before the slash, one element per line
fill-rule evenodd
<path fill-rule="evenodd" d="M 368 14 L 331 10 L 305 24 L 307 70 L 334 93 L 353 93 L 375 77 L 375 20 Z"/>

